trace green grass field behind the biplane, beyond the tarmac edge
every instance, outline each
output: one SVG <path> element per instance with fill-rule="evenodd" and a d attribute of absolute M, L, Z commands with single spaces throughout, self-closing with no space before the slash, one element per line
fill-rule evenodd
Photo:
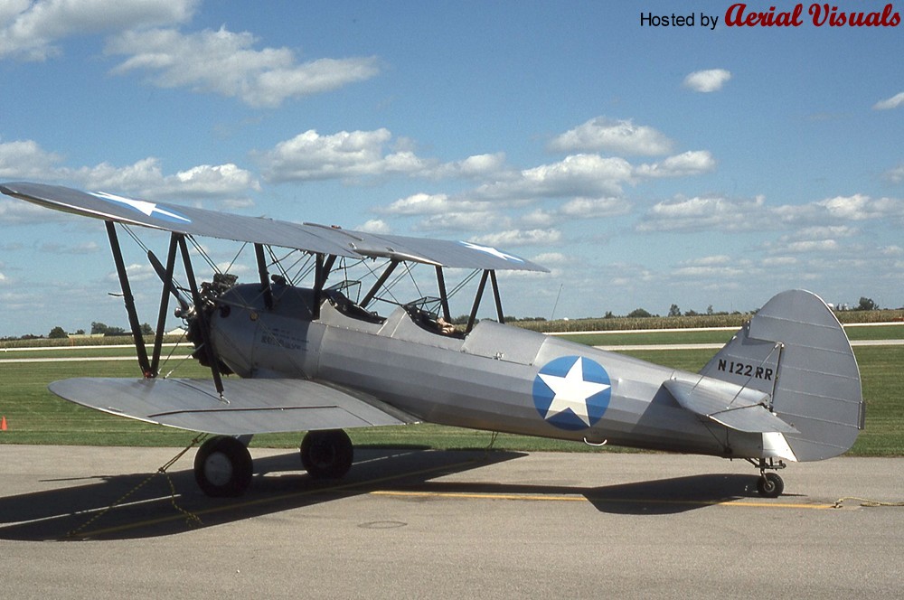
<path fill-rule="evenodd" d="M 904 326 L 856 327 L 849 328 L 848 333 L 852 339 L 900 339 L 904 338 Z M 597 336 L 587 335 L 575 335 L 571 339 L 605 345 L 703 343 L 726 342 L 731 334 L 731 332 L 604 333 L 601 334 L 602 341 Z M 614 339 L 621 341 L 615 342 Z M 625 353 L 645 361 L 696 371 L 709 361 L 714 351 L 665 350 Z M 176 354 L 184 354 L 184 350 L 177 350 Z M 901 365 L 904 365 L 904 346 L 860 347 L 855 349 L 855 354 L 862 373 L 867 420 L 865 430 L 861 432 L 849 454 L 904 455 L 904 380 L 899 376 Z M 7 430 L 0 431 L 0 444 L 184 446 L 191 442 L 194 437 L 191 432 L 147 425 L 81 408 L 56 398 L 47 390 L 47 385 L 51 381 L 70 377 L 140 376 L 135 361 L 105 360 L 131 356 L 128 348 L 52 351 L 35 349 L 16 352 L 0 350 L 0 359 L 4 360 L 86 356 L 93 360 L 0 363 L 0 416 L 5 417 L 7 423 Z M 168 369 L 176 368 L 174 377 L 209 376 L 209 371 L 192 360 L 174 359 L 168 364 L 170 365 Z M 168 369 L 165 368 L 164 372 Z M 491 441 L 491 434 L 487 432 L 428 424 L 351 429 L 349 435 L 355 445 L 394 447 L 484 448 Z M 298 434 L 257 436 L 252 445 L 293 447 L 298 445 L 300 438 Z M 494 448 L 528 451 L 598 451 L 597 448 L 573 442 L 511 435 L 498 436 L 494 441 Z"/>

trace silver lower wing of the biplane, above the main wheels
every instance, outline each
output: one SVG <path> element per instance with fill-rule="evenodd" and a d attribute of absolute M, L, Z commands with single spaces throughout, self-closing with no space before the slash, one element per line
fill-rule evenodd
<path fill-rule="evenodd" d="M 212 380 L 79 378 L 51 391 L 88 408 L 192 431 L 246 434 L 403 425 L 414 417 L 378 400 L 308 380 L 231 380 L 220 399 Z"/>

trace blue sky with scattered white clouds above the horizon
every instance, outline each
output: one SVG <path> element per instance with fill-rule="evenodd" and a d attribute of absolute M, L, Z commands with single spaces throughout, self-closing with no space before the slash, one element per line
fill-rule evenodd
<path fill-rule="evenodd" d="M 507 314 L 904 305 L 904 25 L 613 4 L 6 2 L 0 181 L 492 244 Z M 0 336 L 126 323 L 98 221 L 0 231 Z"/>

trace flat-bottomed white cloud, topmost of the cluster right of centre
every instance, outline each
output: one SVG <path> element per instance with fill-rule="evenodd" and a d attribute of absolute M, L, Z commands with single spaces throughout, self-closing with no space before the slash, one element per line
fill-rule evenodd
<path fill-rule="evenodd" d="M 653 127 L 636 126 L 633 121 L 607 117 L 590 119 L 583 125 L 555 137 L 553 152 L 595 152 L 607 150 L 618 155 L 665 155 L 674 142 Z"/>

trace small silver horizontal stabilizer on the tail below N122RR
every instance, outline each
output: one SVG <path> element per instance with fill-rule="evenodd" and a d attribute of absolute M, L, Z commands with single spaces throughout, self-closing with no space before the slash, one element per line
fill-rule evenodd
<path fill-rule="evenodd" d="M 668 380 L 664 386 L 683 408 L 725 427 L 748 433 L 799 433 L 767 408 L 769 396 L 761 391 L 716 380 Z"/>

